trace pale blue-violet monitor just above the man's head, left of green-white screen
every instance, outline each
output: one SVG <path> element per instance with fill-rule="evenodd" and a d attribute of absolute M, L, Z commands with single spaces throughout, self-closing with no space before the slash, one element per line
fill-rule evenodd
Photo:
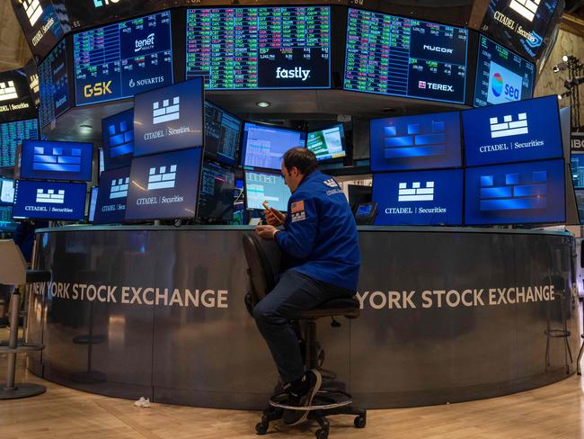
<path fill-rule="evenodd" d="M 243 126 L 243 166 L 279 170 L 284 153 L 297 147 L 306 147 L 305 132 L 251 122 Z"/>

